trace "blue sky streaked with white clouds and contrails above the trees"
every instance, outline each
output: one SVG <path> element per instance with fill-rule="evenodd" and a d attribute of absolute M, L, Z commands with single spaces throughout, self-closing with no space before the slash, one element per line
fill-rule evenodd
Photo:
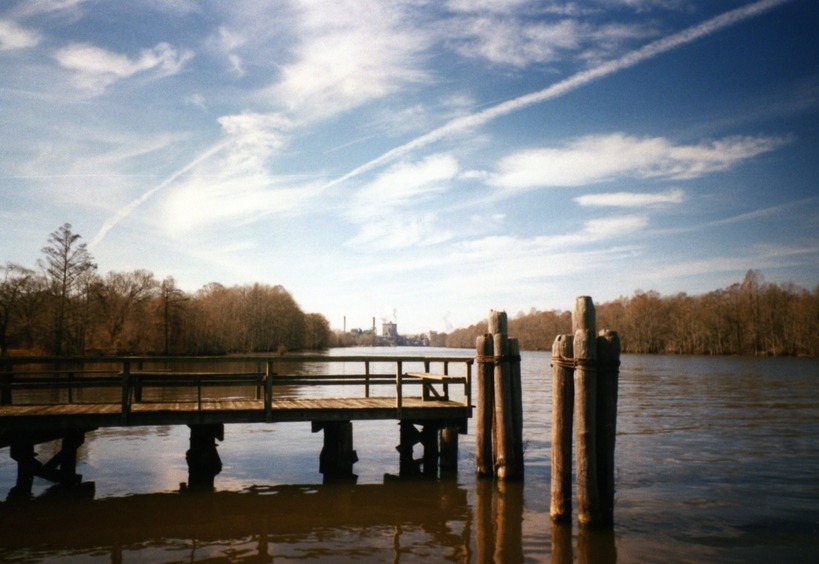
<path fill-rule="evenodd" d="M 3 0 L 0 263 L 451 331 L 819 284 L 816 0 Z M 616 328 L 614 328 L 616 329 Z"/>

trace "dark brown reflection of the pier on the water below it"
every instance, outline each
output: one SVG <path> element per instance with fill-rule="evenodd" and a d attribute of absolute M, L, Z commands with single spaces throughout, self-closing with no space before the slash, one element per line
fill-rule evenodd
<path fill-rule="evenodd" d="M 89 495 L 90 494 L 90 495 Z M 518 521 L 520 521 L 518 512 Z M 131 557 L 232 561 L 471 560 L 472 512 L 454 480 L 370 485 L 257 486 L 242 492 L 160 493 L 93 499 L 52 488 L 25 503 L 0 503 L 0 560 Z M 509 538 L 520 546 L 517 538 Z M 182 554 L 185 557 L 182 558 Z M 230 555 L 242 555 L 233 558 Z"/>

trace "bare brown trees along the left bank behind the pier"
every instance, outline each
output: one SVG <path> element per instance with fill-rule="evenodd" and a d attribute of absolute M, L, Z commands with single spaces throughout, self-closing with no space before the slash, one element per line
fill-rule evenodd
<path fill-rule="evenodd" d="M 0 266 L 0 354 L 226 354 L 322 349 L 330 324 L 282 286 L 186 293 L 147 270 L 98 272 L 66 223 L 35 268 Z"/>

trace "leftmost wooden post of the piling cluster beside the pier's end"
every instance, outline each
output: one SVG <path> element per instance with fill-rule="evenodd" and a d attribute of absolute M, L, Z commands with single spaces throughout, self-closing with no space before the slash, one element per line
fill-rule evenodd
<path fill-rule="evenodd" d="M 492 460 L 492 419 L 495 410 L 495 345 L 492 335 L 481 335 L 477 339 L 477 380 L 478 399 L 475 417 L 475 440 L 477 442 L 475 463 L 478 476 L 494 475 Z"/>

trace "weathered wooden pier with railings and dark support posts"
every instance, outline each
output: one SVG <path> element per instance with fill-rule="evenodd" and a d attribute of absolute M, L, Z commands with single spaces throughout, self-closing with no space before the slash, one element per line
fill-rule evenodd
<path fill-rule="evenodd" d="M 0 359 L 0 448 L 18 463 L 12 493 L 25 496 L 35 476 L 80 481 L 76 451 L 89 431 L 188 425 L 189 485 L 213 487 L 225 424 L 304 421 L 324 431 L 320 470 L 337 479 L 354 476 L 352 422 L 396 420 L 401 473 L 437 475 L 439 462 L 457 467 L 457 437 L 472 415 L 472 364 L 422 356 Z M 37 460 L 34 445 L 53 440 L 62 440 L 58 454 Z"/>

